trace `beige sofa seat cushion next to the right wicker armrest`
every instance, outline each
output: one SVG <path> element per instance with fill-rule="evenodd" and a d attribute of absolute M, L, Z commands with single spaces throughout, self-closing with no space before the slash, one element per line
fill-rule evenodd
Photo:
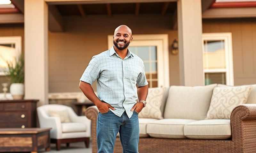
<path fill-rule="evenodd" d="M 230 120 L 198 120 L 184 126 L 184 134 L 190 139 L 228 139 L 231 137 Z"/>

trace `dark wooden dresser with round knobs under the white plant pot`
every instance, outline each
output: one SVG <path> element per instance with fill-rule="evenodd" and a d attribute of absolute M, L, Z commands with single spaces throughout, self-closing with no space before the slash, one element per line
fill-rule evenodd
<path fill-rule="evenodd" d="M 0 128 L 36 128 L 39 100 L 0 100 Z"/>

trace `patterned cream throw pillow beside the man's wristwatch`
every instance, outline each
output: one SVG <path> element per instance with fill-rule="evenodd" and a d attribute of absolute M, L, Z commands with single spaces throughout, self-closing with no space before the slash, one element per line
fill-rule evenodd
<path fill-rule="evenodd" d="M 163 114 L 160 110 L 163 103 L 164 91 L 166 87 L 149 88 L 146 99 L 146 107 L 140 113 L 139 118 L 163 119 Z"/>

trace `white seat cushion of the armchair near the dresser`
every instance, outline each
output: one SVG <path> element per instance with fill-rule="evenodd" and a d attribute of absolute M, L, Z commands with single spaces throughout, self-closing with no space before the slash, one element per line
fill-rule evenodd
<path fill-rule="evenodd" d="M 84 123 L 61 123 L 62 132 L 84 132 L 87 127 Z"/>

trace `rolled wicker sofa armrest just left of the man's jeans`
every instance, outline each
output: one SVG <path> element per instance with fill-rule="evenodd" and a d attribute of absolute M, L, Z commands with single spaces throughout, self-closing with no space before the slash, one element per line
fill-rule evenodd
<path fill-rule="evenodd" d="M 86 108 L 85 110 L 85 116 L 90 119 L 92 122 L 92 133 L 91 133 L 91 138 L 92 138 L 92 152 L 97 152 L 97 137 L 96 137 L 96 127 L 97 127 L 97 119 L 98 119 L 98 114 L 99 110 L 97 106 L 90 106 Z"/>

